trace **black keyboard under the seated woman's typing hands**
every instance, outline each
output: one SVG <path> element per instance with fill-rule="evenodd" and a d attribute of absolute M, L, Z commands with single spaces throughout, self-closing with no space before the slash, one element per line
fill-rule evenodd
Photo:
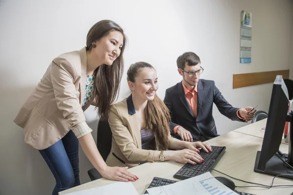
<path fill-rule="evenodd" d="M 212 152 L 205 152 L 203 149 L 200 150 L 199 155 L 205 160 L 202 163 L 189 164 L 186 163 L 175 175 L 178 179 L 188 179 L 190 177 L 198 176 L 209 172 L 217 160 L 223 155 L 226 150 L 225 146 L 211 146 Z"/>

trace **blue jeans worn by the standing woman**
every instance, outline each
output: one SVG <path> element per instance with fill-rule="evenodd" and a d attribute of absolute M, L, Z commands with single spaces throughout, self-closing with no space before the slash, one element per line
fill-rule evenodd
<path fill-rule="evenodd" d="M 70 130 L 49 148 L 39 150 L 56 180 L 52 195 L 58 195 L 58 192 L 81 184 L 78 143 L 78 139 Z"/>

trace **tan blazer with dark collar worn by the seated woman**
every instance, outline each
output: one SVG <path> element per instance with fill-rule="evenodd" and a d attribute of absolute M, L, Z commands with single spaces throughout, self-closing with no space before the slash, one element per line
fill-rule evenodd
<path fill-rule="evenodd" d="M 108 166 L 134 167 L 140 162 L 153 162 L 154 150 L 143 150 L 141 122 L 135 114 L 132 96 L 111 105 L 109 125 L 112 131 L 112 148 L 106 159 Z M 168 127 L 167 127 L 168 128 Z M 168 144 L 174 139 L 168 137 Z M 157 139 L 156 139 L 156 145 Z M 157 150 L 159 150 L 157 148 Z"/>

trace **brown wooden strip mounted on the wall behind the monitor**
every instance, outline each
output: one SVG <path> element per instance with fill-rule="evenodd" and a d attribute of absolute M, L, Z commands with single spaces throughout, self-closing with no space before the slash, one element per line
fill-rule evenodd
<path fill-rule="evenodd" d="M 233 75 L 233 89 L 270 83 L 277 75 L 282 75 L 283 79 L 289 78 L 289 70 L 236 74 Z"/>

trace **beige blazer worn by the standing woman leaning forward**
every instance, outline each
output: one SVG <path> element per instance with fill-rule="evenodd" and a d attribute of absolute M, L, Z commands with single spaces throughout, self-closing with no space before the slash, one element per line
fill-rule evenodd
<path fill-rule="evenodd" d="M 86 51 L 62 54 L 54 59 L 14 122 L 24 130 L 24 140 L 38 150 L 59 141 L 85 121 Z"/>

